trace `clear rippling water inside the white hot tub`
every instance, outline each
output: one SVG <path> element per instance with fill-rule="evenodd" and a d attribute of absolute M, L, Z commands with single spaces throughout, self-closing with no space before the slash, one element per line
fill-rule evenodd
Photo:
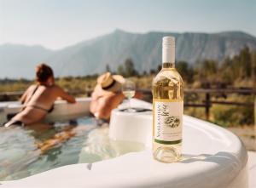
<path fill-rule="evenodd" d="M 89 117 L 45 127 L 0 128 L 0 180 L 21 179 L 67 164 L 97 162 L 144 149 L 139 143 L 109 140 L 108 126 L 96 126 Z"/>

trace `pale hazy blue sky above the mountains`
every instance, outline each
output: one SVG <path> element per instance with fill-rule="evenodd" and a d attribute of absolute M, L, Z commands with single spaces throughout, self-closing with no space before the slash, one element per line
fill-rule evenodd
<path fill-rule="evenodd" d="M 60 49 L 115 29 L 256 37 L 256 0 L 0 0 L 0 45 Z"/>

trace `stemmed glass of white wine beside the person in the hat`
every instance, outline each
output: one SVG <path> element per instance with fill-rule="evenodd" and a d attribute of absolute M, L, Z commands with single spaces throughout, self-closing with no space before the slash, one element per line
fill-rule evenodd
<path fill-rule="evenodd" d="M 131 98 L 135 94 L 135 83 L 133 83 L 131 80 L 125 79 L 125 83 L 122 84 L 122 92 L 125 95 L 125 98 L 128 99 L 129 105 L 128 105 L 128 112 L 134 112 L 133 109 L 131 109 Z"/>

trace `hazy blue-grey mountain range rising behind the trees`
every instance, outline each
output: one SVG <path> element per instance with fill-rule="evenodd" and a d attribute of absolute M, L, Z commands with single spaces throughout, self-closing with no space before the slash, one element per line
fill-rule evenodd
<path fill-rule="evenodd" d="M 241 31 L 212 34 L 154 31 L 141 34 L 116 30 L 57 51 L 13 45 L 15 50 L 12 51 L 11 46 L 9 50 L 6 50 L 6 45 L 0 46 L 0 65 L 4 65 L 0 74 L 2 77 L 33 77 L 35 64 L 44 61 L 54 68 L 56 76 L 84 76 L 105 71 L 107 65 L 116 71 L 127 58 L 133 60 L 138 71 L 149 71 L 160 65 L 164 36 L 176 37 L 176 59 L 190 64 L 203 59 L 222 61 L 238 54 L 246 45 L 256 49 L 256 37 Z M 20 63 L 22 66 L 17 66 Z"/>

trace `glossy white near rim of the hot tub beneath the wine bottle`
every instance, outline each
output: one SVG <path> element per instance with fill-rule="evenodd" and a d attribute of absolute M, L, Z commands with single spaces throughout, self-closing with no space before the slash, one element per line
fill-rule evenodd
<path fill-rule="evenodd" d="M 133 105 L 151 104 L 132 100 Z M 200 119 L 183 117 L 183 160 L 161 163 L 151 154 L 150 111 L 127 113 L 115 109 L 111 140 L 139 142 L 144 151 L 101 162 L 55 168 L 25 179 L 2 182 L 5 187 L 247 187 L 247 151 L 236 135 Z"/>

